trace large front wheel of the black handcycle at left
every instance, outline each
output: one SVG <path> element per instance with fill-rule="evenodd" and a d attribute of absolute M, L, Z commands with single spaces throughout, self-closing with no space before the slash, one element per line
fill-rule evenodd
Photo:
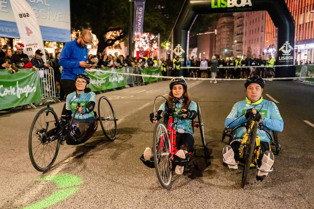
<path fill-rule="evenodd" d="M 45 107 L 37 112 L 28 138 L 30 161 L 38 171 L 48 170 L 55 162 L 61 138 L 54 135 L 61 129 L 57 114 Z"/>

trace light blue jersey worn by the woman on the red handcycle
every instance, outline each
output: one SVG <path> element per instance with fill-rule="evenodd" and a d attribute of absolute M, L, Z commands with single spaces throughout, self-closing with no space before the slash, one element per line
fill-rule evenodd
<path fill-rule="evenodd" d="M 182 109 L 182 104 L 181 103 L 176 103 L 173 108 L 178 108 L 179 110 Z M 164 111 L 165 110 L 165 102 L 162 103 L 159 107 L 159 110 L 162 110 Z M 189 105 L 189 110 L 194 110 L 195 112 L 197 112 L 197 105 L 195 102 L 191 101 L 190 102 L 190 105 Z M 178 131 L 178 129 L 183 129 L 184 130 L 184 133 L 190 133 L 192 134 L 193 136 L 193 129 L 192 129 L 192 120 L 188 119 L 188 118 L 184 118 L 184 119 L 180 119 L 182 117 L 182 115 L 178 115 L 178 117 L 176 116 L 176 113 L 175 113 L 175 117 L 174 117 L 174 122 L 173 123 L 176 123 L 176 125 L 174 125 L 174 129 L 176 131 Z"/>

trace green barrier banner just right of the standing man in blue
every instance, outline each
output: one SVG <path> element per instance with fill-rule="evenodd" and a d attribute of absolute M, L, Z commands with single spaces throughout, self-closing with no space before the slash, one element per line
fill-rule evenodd
<path fill-rule="evenodd" d="M 102 70 L 102 69 L 97 69 Z M 106 68 L 105 71 L 120 72 L 123 73 L 124 68 Z M 126 85 L 126 81 L 123 74 L 108 73 L 101 71 L 85 70 L 86 74 L 90 77 L 91 81 L 89 88 L 92 91 L 101 91 L 106 89 L 113 89 Z"/>

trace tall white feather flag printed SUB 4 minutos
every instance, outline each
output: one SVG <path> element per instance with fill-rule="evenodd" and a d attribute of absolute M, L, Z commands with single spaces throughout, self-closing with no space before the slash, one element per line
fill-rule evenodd
<path fill-rule="evenodd" d="M 20 39 L 24 44 L 24 54 L 31 60 L 35 56 L 35 51 L 40 49 L 44 54 L 42 59 L 46 63 L 44 43 L 35 13 L 29 3 L 25 0 L 10 0 L 16 24 L 19 29 Z M 53 33 L 51 31 L 51 33 Z"/>

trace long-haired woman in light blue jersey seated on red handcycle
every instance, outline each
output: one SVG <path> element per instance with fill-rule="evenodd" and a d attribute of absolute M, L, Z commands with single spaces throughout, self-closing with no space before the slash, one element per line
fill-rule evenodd
<path fill-rule="evenodd" d="M 172 78 L 169 84 L 170 92 L 168 95 L 168 101 L 172 108 L 177 108 L 183 111 L 182 115 L 175 115 L 174 117 L 174 128 L 176 130 L 176 147 L 178 149 L 176 157 L 178 159 L 186 159 L 188 153 L 193 152 L 194 138 L 193 138 L 193 123 L 192 120 L 198 115 L 197 105 L 191 101 L 187 92 L 187 81 L 184 77 Z M 150 121 L 157 123 L 161 119 L 161 115 L 165 110 L 165 102 L 159 107 L 159 110 L 155 113 L 150 114 Z M 144 151 L 144 159 L 152 160 L 153 153 L 152 149 L 147 147 Z M 181 175 L 183 173 L 184 166 L 177 165 L 175 172 Z"/>

